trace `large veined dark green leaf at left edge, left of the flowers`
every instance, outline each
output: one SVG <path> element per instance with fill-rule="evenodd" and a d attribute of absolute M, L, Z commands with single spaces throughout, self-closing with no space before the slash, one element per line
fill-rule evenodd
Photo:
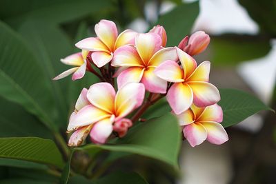
<path fill-rule="evenodd" d="M 43 68 L 18 34 L 1 22 L 0 30 L 0 95 L 19 103 L 54 129 L 55 103 Z"/>

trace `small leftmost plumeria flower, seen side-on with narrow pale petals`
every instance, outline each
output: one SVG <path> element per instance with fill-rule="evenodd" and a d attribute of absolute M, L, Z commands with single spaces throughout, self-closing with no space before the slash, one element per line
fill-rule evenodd
<path fill-rule="evenodd" d="M 53 80 L 63 79 L 64 77 L 72 74 L 72 81 L 77 79 L 81 79 L 84 74 L 86 74 L 86 57 L 88 55 L 88 51 L 82 50 L 82 52 L 77 52 L 72 54 L 64 59 L 61 59 L 61 62 L 66 65 L 73 65 L 74 68 L 66 70 L 62 72 L 58 76 L 56 76 Z"/>

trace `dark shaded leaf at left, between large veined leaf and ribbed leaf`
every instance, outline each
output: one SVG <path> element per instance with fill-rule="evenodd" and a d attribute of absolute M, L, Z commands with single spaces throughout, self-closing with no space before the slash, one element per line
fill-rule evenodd
<path fill-rule="evenodd" d="M 39 136 L 52 139 L 52 134 L 48 128 L 20 105 L 7 101 L 1 96 L 0 104 L 5 107 L 0 112 L 0 125 L 2 127 L 0 128 L 0 137 Z"/>

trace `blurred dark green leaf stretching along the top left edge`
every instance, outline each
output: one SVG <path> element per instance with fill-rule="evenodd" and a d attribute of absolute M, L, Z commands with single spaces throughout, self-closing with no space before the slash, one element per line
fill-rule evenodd
<path fill-rule="evenodd" d="M 42 4 L 46 4 L 45 1 L 42 2 Z M 37 8 L 32 11 L 18 14 L 18 16 L 9 17 L 4 19 L 4 21 L 12 25 L 12 27 L 17 27 L 23 21 L 28 19 L 36 19 L 47 24 L 66 23 L 68 21 L 74 21 L 85 17 L 88 14 L 95 14 L 96 12 L 107 10 L 110 8 L 110 5 L 110 1 L 56 1 L 55 3 L 49 3 L 45 6 L 37 6 Z"/>

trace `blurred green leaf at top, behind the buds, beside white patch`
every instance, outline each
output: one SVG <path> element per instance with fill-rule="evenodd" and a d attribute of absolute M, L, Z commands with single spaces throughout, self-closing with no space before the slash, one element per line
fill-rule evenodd
<path fill-rule="evenodd" d="M 198 14 L 199 2 L 197 1 L 176 6 L 175 9 L 160 17 L 158 24 L 166 29 L 167 46 L 178 45 L 181 39 L 190 34 Z"/>

